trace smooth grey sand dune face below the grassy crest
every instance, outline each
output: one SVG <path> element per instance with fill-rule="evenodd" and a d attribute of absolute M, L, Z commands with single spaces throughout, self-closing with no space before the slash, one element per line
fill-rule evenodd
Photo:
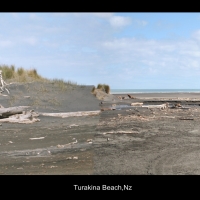
<path fill-rule="evenodd" d="M 9 95 L 0 95 L 1 105 L 30 106 L 36 112 L 77 112 L 99 110 L 99 102 L 91 94 L 93 86 L 61 87 L 53 83 L 14 83 Z"/>

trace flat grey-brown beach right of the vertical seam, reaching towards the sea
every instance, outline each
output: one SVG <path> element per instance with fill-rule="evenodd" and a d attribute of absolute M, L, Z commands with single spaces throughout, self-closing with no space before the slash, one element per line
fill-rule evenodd
<path fill-rule="evenodd" d="M 132 95 L 135 99 L 115 103 L 124 105 L 121 109 L 104 111 L 100 116 L 94 143 L 95 174 L 200 174 L 199 94 Z M 170 106 L 131 107 L 131 102 L 169 102 Z M 113 102 L 105 104 L 111 107 Z"/>

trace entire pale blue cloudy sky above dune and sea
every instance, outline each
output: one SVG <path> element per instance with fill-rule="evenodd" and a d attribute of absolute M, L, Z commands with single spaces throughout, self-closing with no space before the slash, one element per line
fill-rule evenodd
<path fill-rule="evenodd" d="M 200 89 L 200 13 L 0 13 L 0 65 L 111 89 Z"/>

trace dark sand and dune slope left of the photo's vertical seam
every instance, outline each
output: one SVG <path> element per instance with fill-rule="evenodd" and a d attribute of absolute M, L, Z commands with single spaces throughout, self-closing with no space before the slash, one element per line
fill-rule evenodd
<path fill-rule="evenodd" d="M 0 104 L 30 106 L 39 113 L 95 111 L 100 101 L 90 93 L 92 87 L 63 90 L 49 83 L 11 85 L 11 94 L 0 96 Z M 33 124 L 1 123 L 0 174 L 93 174 L 89 140 L 94 140 L 99 116 L 38 118 L 40 122 Z"/>

